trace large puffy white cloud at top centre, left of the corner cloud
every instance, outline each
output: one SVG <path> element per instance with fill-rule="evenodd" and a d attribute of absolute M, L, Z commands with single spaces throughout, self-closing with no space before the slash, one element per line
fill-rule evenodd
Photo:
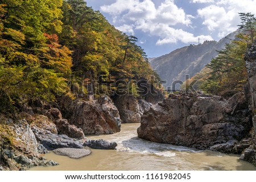
<path fill-rule="evenodd" d="M 177 43 L 177 41 L 195 43 L 199 37 L 201 40 L 212 40 L 210 36 L 194 36 L 179 28 L 179 26 L 189 27 L 195 17 L 177 7 L 174 0 L 165 0 L 158 7 L 155 7 L 151 0 L 116 0 L 111 5 L 102 6 L 101 11 L 112 15 L 115 23 L 119 20 L 122 25 L 117 28 L 123 32 L 134 33 L 134 29 L 139 29 L 148 32 L 151 36 L 158 36 L 157 45 Z M 132 22 L 134 26 L 129 26 L 122 20 Z"/>

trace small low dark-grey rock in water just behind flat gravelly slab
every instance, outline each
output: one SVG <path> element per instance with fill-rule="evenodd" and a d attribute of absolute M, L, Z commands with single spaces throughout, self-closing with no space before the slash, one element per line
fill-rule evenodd
<path fill-rule="evenodd" d="M 105 150 L 115 150 L 117 143 L 108 142 L 103 139 L 89 140 L 86 141 L 83 146 L 92 147 L 93 149 L 105 149 Z"/>

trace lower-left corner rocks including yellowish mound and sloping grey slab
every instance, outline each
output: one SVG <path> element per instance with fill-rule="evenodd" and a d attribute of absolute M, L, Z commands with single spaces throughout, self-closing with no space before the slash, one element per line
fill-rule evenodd
<path fill-rule="evenodd" d="M 82 145 L 57 134 L 56 125 L 46 116 L 24 112 L 16 118 L 0 116 L 0 171 L 58 165 L 47 161 L 42 154 L 59 147 L 81 148 Z"/>

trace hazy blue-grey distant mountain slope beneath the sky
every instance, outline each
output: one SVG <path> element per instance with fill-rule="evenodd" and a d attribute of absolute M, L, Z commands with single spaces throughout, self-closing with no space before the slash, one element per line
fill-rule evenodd
<path fill-rule="evenodd" d="M 226 36 L 228 39 L 223 38 L 218 42 L 205 41 L 203 44 L 176 49 L 164 56 L 150 59 L 150 65 L 162 80 L 167 81 L 167 84 L 164 84 L 165 87 L 172 86 L 174 81 L 184 82 L 185 75 L 188 74 L 192 78 L 196 73 L 199 73 L 212 58 L 218 55 L 216 50 L 223 49 L 226 43 L 235 39 L 236 34 L 237 32 L 230 33 Z M 179 89 L 178 85 L 177 88 Z"/>

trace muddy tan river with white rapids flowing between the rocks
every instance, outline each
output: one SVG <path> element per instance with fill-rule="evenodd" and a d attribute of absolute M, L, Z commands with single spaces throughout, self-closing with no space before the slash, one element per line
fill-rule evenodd
<path fill-rule="evenodd" d="M 91 149 L 92 154 L 81 159 L 46 154 L 59 166 L 34 167 L 31 171 L 84 170 L 256 170 L 253 164 L 239 160 L 238 155 L 226 155 L 208 150 L 154 143 L 137 137 L 139 124 L 122 124 L 121 132 L 105 136 L 88 136 L 117 142 L 117 150 Z"/>

